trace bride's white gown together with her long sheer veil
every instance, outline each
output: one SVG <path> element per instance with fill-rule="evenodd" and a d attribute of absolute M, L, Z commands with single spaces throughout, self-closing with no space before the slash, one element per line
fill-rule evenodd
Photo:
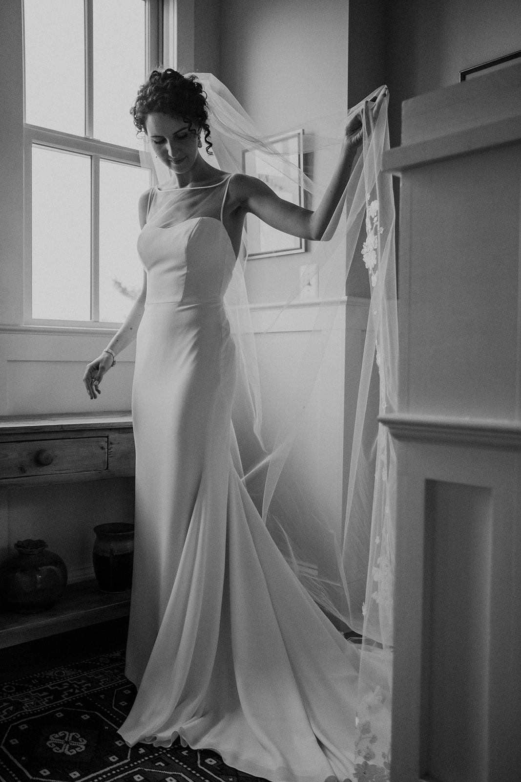
<path fill-rule="evenodd" d="M 383 170 L 387 99 L 376 124 L 370 100 L 381 88 L 348 117 L 323 121 L 327 138 L 311 122 L 298 162 L 262 138 L 216 77 L 194 76 L 209 99 L 208 162 L 222 173 L 209 187 L 175 188 L 159 167 L 138 243 L 148 293 L 132 395 L 136 533 L 127 644 L 127 676 L 138 691 L 120 734 L 129 745 L 158 746 L 179 736 L 273 782 L 384 782 L 391 768 L 396 457 L 378 415 L 396 410 L 398 386 L 394 198 Z M 273 174 L 278 192 L 302 188 L 316 208 L 329 183 L 317 177 L 316 162 L 331 154 L 337 163 L 353 113 L 362 117 L 362 150 L 324 237 L 330 241 L 312 245 L 309 260 L 320 276 L 319 299 L 305 321 L 309 337 L 288 335 L 287 366 L 279 362 L 277 377 L 266 377 L 256 350 L 277 323 L 284 331 L 301 286 L 265 308 L 254 334 L 247 236 L 236 260 L 223 222 L 224 172 L 241 172 L 248 150 L 259 171 Z M 152 167 L 149 152 L 140 156 Z M 356 412 L 344 454 L 343 513 L 323 502 L 323 483 L 316 492 L 331 432 L 314 430 L 310 453 L 303 413 L 360 252 L 370 300 L 363 300 L 361 365 L 352 361 L 357 332 L 344 330 L 346 345 L 351 340 L 345 377 L 355 381 L 355 399 L 350 379 L 345 404 Z M 335 362 L 341 353 L 335 350 Z M 278 373 L 284 393 L 263 423 L 261 397 L 266 383 L 273 393 Z M 327 396 L 321 411 L 324 403 Z M 302 432 L 308 446 L 300 453 Z M 348 644 L 318 606 L 361 633 L 362 644 Z"/>

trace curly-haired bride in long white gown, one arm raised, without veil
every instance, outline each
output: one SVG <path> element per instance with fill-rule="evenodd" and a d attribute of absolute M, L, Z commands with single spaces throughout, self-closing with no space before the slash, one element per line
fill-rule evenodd
<path fill-rule="evenodd" d="M 376 117 L 382 90 L 372 104 Z M 234 461 L 234 339 L 223 307 L 244 218 L 320 240 L 344 193 L 362 119 L 316 210 L 199 153 L 211 148 L 202 84 L 153 71 L 132 109 L 170 181 L 140 199 L 143 289 L 87 365 L 95 400 L 137 338 L 134 582 L 127 642 L 137 698 L 120 734 L 219 752 L 273 782 L 353 777 L 358 658 L 269 536 Z"/>

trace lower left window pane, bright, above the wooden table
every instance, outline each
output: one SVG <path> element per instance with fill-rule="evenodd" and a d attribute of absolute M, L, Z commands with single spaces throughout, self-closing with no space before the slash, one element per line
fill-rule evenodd
<path fill-rule="evenodd" d="M 91 159 L 33 146 L 33 317 L 91 319 Z"/>

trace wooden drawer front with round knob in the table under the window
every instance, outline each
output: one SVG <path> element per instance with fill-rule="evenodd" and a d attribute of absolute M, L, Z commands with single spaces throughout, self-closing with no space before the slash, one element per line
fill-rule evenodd
<path fill-rule="evenodd" d="M 0 443 L 0 480 L 106 469 L 106 436 Z"/>

